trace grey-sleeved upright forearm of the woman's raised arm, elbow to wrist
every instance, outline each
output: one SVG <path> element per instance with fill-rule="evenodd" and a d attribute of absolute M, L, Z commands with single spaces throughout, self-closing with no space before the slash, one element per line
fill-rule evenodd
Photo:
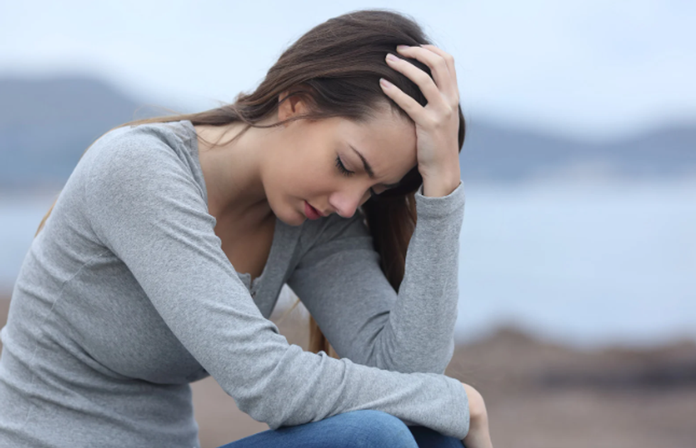
<path fill-rule="evenodd" d="M 444 373 L 450 362 L 459 301 L 463 188 L 460 184 L 445 197 L 416 197 L 418 223 L 404 278 L 375 341 L 376 364 L 382 368 Z"/>

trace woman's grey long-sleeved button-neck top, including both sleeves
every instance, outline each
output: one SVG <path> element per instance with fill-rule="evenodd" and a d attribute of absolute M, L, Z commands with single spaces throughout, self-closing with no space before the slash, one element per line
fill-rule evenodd
<path fill-rule="evenodd" d="M 99 138 L 34 239 L 0 337 L 0 447 L 198 447 L 192 381 L 271 429 L 352 410 L 464 438 L 454 351 L 464 190 L 416 195 L 397 293 L 363 216 L 276 220 L 250 284 L 214 233 L 190 121 Z M 268 320 L 284 283 L 342 359 Z"/>

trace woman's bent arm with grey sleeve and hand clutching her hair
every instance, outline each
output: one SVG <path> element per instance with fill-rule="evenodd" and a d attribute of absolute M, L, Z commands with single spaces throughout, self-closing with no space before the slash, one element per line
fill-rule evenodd
<path fill-rule="evenodd" d="M 464 215 L 457 75 L 452 55 L 434 45 L 397 50 L 432 73 L 394 55 L 386 58 L 391 68 L 418 84 L 425 106 L 380 81 L 384 94 L 413 119 L 423 177 L 415 195 L 418 223 L 398 295 L 379 268 L 366 229 L 359 230 L 361 219 L 355 218 L 352 227 L 308 251 L 289 283 L 340 356 L 388 370 L 444 373 L 454 352 Z"/>

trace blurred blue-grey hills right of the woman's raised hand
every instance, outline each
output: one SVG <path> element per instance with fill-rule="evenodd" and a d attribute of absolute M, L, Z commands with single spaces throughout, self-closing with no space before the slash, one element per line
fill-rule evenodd
<path fill-rule="evenodd" d="M 675 177 L 696 175 L 696 124 L 592 143 L 490 123 L 467 126 L 463 176 L 518 182 L 533 177 Z"/>

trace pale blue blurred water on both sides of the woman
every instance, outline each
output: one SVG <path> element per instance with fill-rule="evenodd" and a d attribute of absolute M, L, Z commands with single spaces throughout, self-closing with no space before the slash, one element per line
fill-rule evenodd
<path fill-rule="evenodd" d="M 696 180 L 465 188 L 460 340 L 500 324 L 575 346 L 696 339 Z M 0 197 L 0 289 L 53 199 Z"/>

